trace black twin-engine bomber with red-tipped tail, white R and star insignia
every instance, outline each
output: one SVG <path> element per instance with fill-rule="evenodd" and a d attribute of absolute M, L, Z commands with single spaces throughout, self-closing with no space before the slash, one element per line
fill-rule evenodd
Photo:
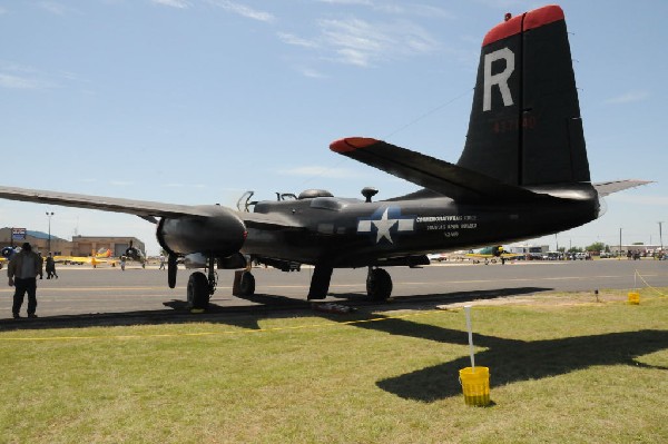
<path fill-rule="evenodd" d="M 311 189 L 219 205 L 175 205 L 0 187 L 6 199 L 137 215 L 157 225 L 168 253 L 167 280 L 176 285 L 177 258 L 200 253 L 207 270 L 190 275 L 187 298 L 205 308 L 215 268 L 246 269 L 244 294 L 255 292 L 253 263 L 284 270 L 314 266 L 308 299 L 326 297 L 334 268 L 369 267 L 367 294 L 386 299 L 390 274 L 381 267 L 429 264 L 428 253 L 499 245 L 554 234 L 601 215 L 600 198 L 647 184 L 592 184 L 563 11 L 548 6 L 494 26 L 482 41 L 473 106 L 456 164 L 385 141 L 350 137 L 334 152 L 422 187 L 372 201 Z M 253 211 L 250 211 L 253 209 Z"/>

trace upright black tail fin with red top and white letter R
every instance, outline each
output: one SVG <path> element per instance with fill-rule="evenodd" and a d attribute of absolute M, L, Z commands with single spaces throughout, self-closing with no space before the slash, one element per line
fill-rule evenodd
<path fill-rule="evenodd" d="M 485 36 L 458 166 L 520 186 L 590 180 L 558 6 L 507 19 Z"/>

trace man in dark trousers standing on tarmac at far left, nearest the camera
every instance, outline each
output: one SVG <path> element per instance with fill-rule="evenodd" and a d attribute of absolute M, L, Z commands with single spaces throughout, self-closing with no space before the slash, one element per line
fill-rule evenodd
<path fill-rule="evenodd" d="M 21 251 L 16 254 L 7 267 L 9 286 L 16 287 L 11 312 L 14 319 L 20 318 L 19 312 L 23 305 L 23 297 L 28 293 L 28 317 L 37 317 L 37 275 L 42 274 L 42 259 L 32 251 L 29 243 L 24 243 Z"/>

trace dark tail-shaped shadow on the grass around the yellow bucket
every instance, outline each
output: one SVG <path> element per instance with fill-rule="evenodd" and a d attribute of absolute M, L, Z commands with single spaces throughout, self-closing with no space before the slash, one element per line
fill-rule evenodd
<path fill-rule="evenodd" d="M 440 328 L 404 319 L 355 324 L 390 334 L 441 343 L 468 345 L 465 330 Z M 475 354 L 475 363 L 490 367 L 491 386 L 541 379 L 599 365 L 631 365 L 658 368 L 636 358 L 668 348 L 668 330 L 637 330 L 560 339 L 524 342 L 495 336 L 473 335 L 477 346 L 488 348 Z M 461 395 L 459 371 L 471 365 L 469 356 L 379 381 L 376 385 L 396 396 L 434 402 Z M 668 376 L 668 375 L 667 375 Z"/>

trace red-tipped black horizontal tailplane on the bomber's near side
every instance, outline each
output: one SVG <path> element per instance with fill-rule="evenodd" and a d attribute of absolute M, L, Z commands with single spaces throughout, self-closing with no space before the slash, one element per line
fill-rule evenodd
<path fill-rule="evenodd" d="M 351 137 L 330 149 L 462 203 L 557 199 L 382 140 Z"/>

